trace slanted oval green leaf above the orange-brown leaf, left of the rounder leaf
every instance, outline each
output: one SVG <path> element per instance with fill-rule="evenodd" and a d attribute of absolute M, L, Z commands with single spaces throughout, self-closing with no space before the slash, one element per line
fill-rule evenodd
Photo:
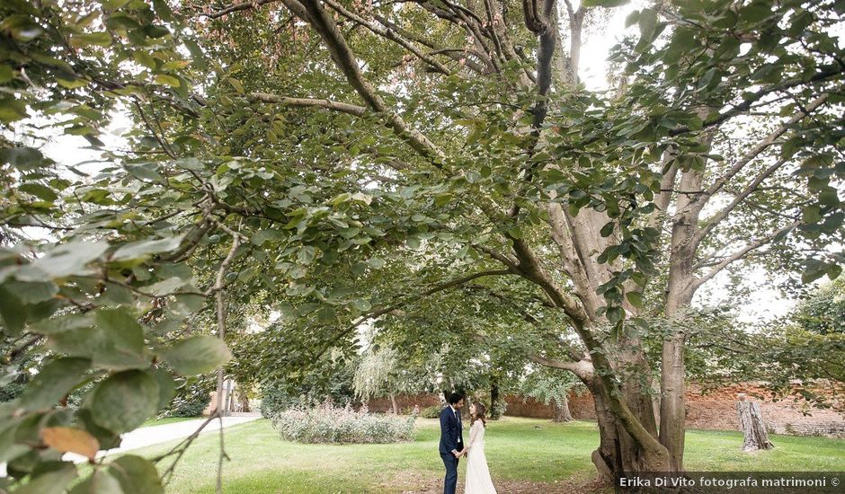
<path fill-rule="evenodd" d="M 21 395 L 25 410 L 43 410 L 58 403 L 91 366 L 86 358 L 57 358 L 40 369 Z"/>

